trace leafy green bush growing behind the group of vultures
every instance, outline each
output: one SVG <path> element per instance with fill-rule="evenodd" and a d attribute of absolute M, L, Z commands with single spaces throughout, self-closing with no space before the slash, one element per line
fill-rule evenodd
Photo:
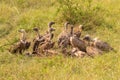
<path fill-rule="evenodd" d="M 57 14 L 60 22 L 69 21 L 72 24 L 83 24 L 86 30 L 97 28 L 105 21 L 107 10 L 96 0 L 57 0 Z"/>

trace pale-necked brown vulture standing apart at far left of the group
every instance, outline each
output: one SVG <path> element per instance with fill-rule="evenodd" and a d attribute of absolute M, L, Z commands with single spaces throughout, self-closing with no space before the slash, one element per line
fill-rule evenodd
<path fill-rule="evenodd" d="M 22 54 L 30 47 L 31 42 L 26 41 L 26 31 L 24 29 L 21 29 L 19 32 L 21 33 L 20 41 L 10 48 L 11 53 Z"/>

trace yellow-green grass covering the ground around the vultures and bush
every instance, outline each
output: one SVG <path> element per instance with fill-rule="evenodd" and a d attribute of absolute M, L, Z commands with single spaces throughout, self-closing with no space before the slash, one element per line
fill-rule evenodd
<path fill-rule="evenodd" d="M 32 28 L 38 26 L 44 33 L 49 21 L 56 21 L 56 41 L 63 29 L 63 22 L 59 21 L 61 13 L 57 13 L 59 3 L 56 0 L 0 0 L 0 80 L 119 80 L 120 1 L 101 0 L 100 3 L 108 10 L 108 15 L 98 15 L 104 16 L 105 25 L 84 31 L 82 35 L 90 34 L 107 41 L 116 53 L 105 53 L 94 59 L 62 55 L 40 58 L 13 55 L 7 49 L 19 40 L 17 30 L 26 29 L 30 34 L 28 39 L 32 41 L 35 35 Z"/>

